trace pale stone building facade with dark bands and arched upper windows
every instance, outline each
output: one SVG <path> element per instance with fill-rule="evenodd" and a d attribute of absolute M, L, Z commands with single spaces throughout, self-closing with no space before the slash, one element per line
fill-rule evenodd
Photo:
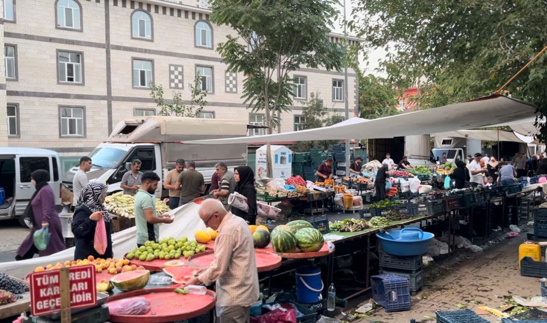
<path fill-rule="evenodd" d="M 129 116 L 158 113 L 149 83 L 165 98 L 179 91 L 189 102 L 196 73 L 207 91 L 201 118 L 260 125 L 241 99 L 243 75 L 227 71 L 217 53 L 234 33 L 209 21 L 195 0 L 2 0 L 0 41 L 0 145 L 46 148 L 83 155 Z M 331 34 L 341 42 L 342 36 Z M 357 39 L 351 38 L 350 42 Z M 280 130 L 299 129 L 311 92 L 331 113 L 344 115 L 345 99 L 357 109 L 357 76 L 301 68 L 292 75 L 295 97 Z M 349 97 L 344 97 L 348 86 Z M 251 135 L 264 130 L 250 130 Z"/>

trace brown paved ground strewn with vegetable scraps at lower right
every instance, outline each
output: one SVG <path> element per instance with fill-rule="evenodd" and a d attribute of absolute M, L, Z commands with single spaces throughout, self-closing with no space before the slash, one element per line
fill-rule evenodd
<path fill-rule="evenodd" d="M 498 308 L 504 303 L 499 298 L 503 295 L 537 296 L 540 293 L 538 279 L 521 276 L 517 263 L 519 244 L 525 237 L 526 233 L 522 233 L 519 238 L 505 239 L 484 252 L 470 255 L 445 268 L 437 279 L 426 278 L 423 290 L 411 297 L 409 311 L 387 313 L 380 309 L 369 318 L 354 322 L 405 323 L 410 319 L 434 322 L 427 317 L 435 317 L 436 310 L 458 310 L 456 303 L 465 304 L 469 309 L 480 306 Z M 491 322 L 498 321 L 494 315 L 481 317 Z"/>

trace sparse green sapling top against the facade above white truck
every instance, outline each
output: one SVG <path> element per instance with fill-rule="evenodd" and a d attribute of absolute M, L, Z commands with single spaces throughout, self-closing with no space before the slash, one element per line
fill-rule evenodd
<path fill-rule="evenodd" d="M 160 107 L 159 115 L 173 115 L 173 116 L 185 116 L 195 117 L 207 104 L 205 98 L 207 97 L 207 91 L 201 90 L 201 76 L 197 73 L 194 79 L 194 84 L 189 83 L 190 87 L 190 104 L 184 104 L 181 92 L 173 91 L 172 102 L 166 102 L 164 99 L 164 87 L 161 85 L 155 85 L 150 82 L 150 96 L 154 99 L 154 102 Z"/>

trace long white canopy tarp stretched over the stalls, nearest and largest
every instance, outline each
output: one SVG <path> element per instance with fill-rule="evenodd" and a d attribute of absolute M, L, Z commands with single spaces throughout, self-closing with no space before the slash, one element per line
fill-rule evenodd
<path fill-rule="evenodd" d="M 393 138 L 507 124 L 516 120 L 533 118 L 535 110 L 536 107 L 533 104 L 503 95 L 492 95 L 472 101 L 445 105 L 444 107 L 374 120 L 352 118 L 323 128 L 267 134 L 265 136 L 191 140 L 184 143 L 214 145 L 295 140 Z"/>

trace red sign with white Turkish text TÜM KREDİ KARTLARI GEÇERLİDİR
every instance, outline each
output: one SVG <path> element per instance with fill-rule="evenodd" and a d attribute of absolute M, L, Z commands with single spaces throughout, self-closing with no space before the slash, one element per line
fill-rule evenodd
<path fill-rule="evenodd" d="M 69 268 L 71 308 L 95 306 L 95 266 Z M 30 276 L 31 313 L 34 316 L 61 310 L 61 275 L 59 269 L 35 272 Z"/>

